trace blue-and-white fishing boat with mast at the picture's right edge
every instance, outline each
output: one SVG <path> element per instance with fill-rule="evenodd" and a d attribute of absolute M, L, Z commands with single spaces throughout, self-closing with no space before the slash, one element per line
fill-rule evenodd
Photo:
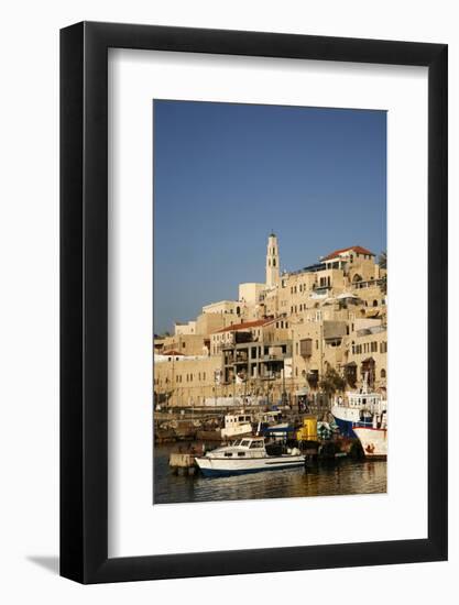
<path fill-rule="evenodd" d="M 337 397 L 331 406 L 331 414 L 343 437 L 357 438 L 354 425 L 372 426 L 373 415 L 387 409 L 387 402 L 381 393 L 372 392 L 368 386 L 368 372 L 363 377 L 360 391 L 347 393 L 346 399 Z"/>

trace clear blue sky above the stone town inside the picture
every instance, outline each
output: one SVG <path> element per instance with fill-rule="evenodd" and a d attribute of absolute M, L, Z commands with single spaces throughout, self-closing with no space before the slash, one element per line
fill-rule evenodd
<path fill-rule="evenodd" d="M 294 271 L 386 248 L 384 111 L 156 100 L 154 329 L 264 282 L 266 239 Z"/>

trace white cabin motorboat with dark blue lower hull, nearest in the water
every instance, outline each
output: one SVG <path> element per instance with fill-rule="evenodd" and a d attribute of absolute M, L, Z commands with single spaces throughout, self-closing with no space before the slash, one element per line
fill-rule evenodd
<path fill-rule="evenodd" d="M 280 444 L 266 447 L 263 437 L 252 437 L 238 439 L 231 446 L 218 448 L 195 460 L 205 476 L 276 471 L 305 463 L 305 457 L 297 448 L 285 453 L 282 450 Z"/>

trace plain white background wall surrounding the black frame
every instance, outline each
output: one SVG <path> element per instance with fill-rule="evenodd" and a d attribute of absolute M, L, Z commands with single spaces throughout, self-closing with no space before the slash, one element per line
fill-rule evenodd
<path fill-rule="evenodd" d="M 342 603 L 376 605 L 456 596 L 459 415 L 453 377 L 448 563 L 91 587 L 62 580 L 47 569 L 56 566 L 58 548 L 58 29 L 83 19 L 449 43 L 450 224 L 457 226 L 459 219 L 453 169 L 459 163 L 459 21 L 452 1 L 18 0 L 6 4 L 0 38 L 1 601 L 70 605 L 103 598 L 114 605 L 127 600 L 192 604 L 211 598 L 233 604 L 236 595 L 267 602 L 328 595 Z M 451 237 L 451 274 L 458 266 L 458 242 Z M 451 308 L 457 307 L 458 295 L 458 280 L 451 279 Z M 451 342 L 457 341 L 456 312 L 450 333 Z M 457 350 L 450 354 L 456 374 Z"/>

